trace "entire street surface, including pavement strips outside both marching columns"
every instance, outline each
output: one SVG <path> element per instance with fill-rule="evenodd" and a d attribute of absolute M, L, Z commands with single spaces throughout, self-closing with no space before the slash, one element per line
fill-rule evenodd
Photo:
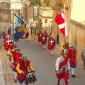
<path fill-rule="evenodd" d="M 50 56 L 47 49 L 43 49 L 37 41 L 34 40 L 19 40 L 17 46 L 21 49 L 23 55 L 28 55 L 28 58 L 31 60 L 33 68 L 36 71 L 37 82 L 29 85 L 57 85 L 55 76 L 55 61 L 57 56 Z M 13 74 L 7 57 L 3 57 L 2 60 L 6 63 L 3 63 L 3 68 L 5 70 L 5 85 L 20 85 L 18 82 L 13 82 Z M 79 60 L 76 76 L 76 78 L 70 77 L 69 85 L 84 85 L 85 73 L 82 67 L 82 62 Z M 61 80 L 61 85 L 64 85 L 63 80 Z"/>

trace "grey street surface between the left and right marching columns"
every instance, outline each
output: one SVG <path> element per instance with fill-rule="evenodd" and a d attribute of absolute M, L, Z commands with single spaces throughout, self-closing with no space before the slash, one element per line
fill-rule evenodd
<path fill-rule="evenodd" d="M 56 57 L 50 56 L 47 49 L 42 48 L 36 41 L 21 41 L 17 46 L 32 62 L 38 79 L 35 85 L 56 85 Z"/>

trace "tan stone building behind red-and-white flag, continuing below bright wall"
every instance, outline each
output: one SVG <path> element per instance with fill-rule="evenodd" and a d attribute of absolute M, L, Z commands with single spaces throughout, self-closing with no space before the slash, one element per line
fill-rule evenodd
<path fill-rule="evenodd" d="M 71 19 L 71 8 L 72 8 L 72 0 L 57 0 L 55 2 L 55 9 L 54 9 L 54 17 L 58 12 L 64 8 L 65 5 L 65 12 L 67 17 L 67 27 L 68 27 L 68 34 L 69 37 L 66 40 L 69 42 L 70 46 L 74 46 L 77 49 L 77 56 L 80 58 L 82 48 L 85 48 L 85 25 L 78 23 Z M 55 30 L 54 30 L 55 29 Z M 54 34 L 57 38 L 59 36 L 59 46 L 62 49 L 62 45 L 64 44 L 64 38 L 58 32 L 58 26 L 53 23 L 53 30 Z"/>

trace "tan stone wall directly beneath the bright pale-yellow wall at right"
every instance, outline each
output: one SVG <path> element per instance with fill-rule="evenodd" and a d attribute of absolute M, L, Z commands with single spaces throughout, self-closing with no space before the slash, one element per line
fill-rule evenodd
<path fill-rule="evenodd" d="M 82 48 L 85 48 L 85 26 L 76 22 L 70 21 L 70 44 L 77 49 L 77 56 L 81 56 Z"/>

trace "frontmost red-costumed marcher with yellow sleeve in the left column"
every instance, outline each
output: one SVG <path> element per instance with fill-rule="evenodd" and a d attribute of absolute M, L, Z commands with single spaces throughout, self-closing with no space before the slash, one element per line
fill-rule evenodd
<path fill-rule="evenodd" d="M 18 57 L 18 63 L 16 66 L 16 70 L 17 70 L 17 78 L 18 78 L 19 82 L 23 83 L 26 79 L 26 75 L 28 74 L 28 71 L 33 70 L 33 68 L 30 64 L 30 60 L 23 59 L 20 55 L 21 54 L 19 54 L 19 57 Z"/>

